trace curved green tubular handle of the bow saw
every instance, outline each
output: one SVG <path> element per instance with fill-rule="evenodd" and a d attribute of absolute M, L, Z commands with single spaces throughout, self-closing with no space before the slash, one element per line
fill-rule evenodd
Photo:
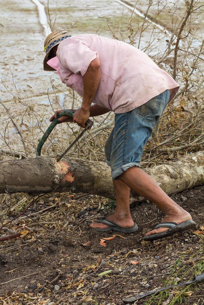
<path fill-rule="evenodd" d="M 57 118 L 54 119 L 52 121 L 52 123 L 50 124 L 50 126 L 48 127 L 48 129 L 46 130 L 46 132 L 43 134 L 40 142 L 38 143 L 37 146 L 37 151 L 36 151 L 36 157 L 41 155 L 41 149 L 43 144 L 45 143 L 46 139 L 48 138 L 48 136 L 51 134 L 52 130 L 55 128 L 56 124 L 59 123 L 59 118 L 63 115 L 69 115 L 70 117 L 73 118 L 73 114 L 75 113 L 75 111 L 71 111 L 71 110 L 62 110 L 58 113 Z M 87 120 L 86 125 L 90 123 L 91 120 Z M 91 121 L 91 126 L 93 125 L 93 122 Z M 90 126 L 90 127 L 91 127 Z M 90 127 L 86 128 L 89 129 Z"/>

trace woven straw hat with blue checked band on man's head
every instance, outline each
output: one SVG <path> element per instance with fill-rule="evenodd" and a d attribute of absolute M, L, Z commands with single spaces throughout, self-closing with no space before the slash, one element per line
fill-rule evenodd
<path fill-rule="evenodd" d="M 44 43 L 44 50 L 46 52 L 46 55 L 43 61 L 43 68 L 45 71 L 55 71 L 55 69 L 53 69 L 47 64 L 47 61 L 50 59 L 50 51 L 55 45 L 59 45 L 62 40 L 68 37 L 71 37 L 71 35 L 67 31 L 62 29 L 58 29 L 46 37 Z"/>

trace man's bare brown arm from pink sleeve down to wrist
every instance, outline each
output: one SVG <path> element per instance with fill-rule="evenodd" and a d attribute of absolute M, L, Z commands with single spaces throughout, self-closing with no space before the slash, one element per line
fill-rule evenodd
<path fill-rule="evenodd" d="M 100 61 L 99 59 L 94 59 L 83 76 L 84 92 L 81 108 L 84 111 L 90 110 L 91 103 L 99 86 L 100 76 Z"/>

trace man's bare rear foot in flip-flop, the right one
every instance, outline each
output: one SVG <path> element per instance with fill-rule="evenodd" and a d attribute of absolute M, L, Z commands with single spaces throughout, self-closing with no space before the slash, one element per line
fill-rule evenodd
<path fill-rule="evenodd" d="M 182 223 L 188 219 L 192 219 L 191 215 L 187 211 L 185 211 L 184 209 L 179 207 L 178 210 L 169 211 L 168 214 L 166 214 L 164 216 L 161 223 L 163 223 L 165 221 L 171 221 L 174 223 Z M 158 229 L 147 232 L 146 236 L 152 235 L 152 234 L 159 234 L 159 233 L 162 233 L 167 230 L 168 230 L 168 228 L 158 228 Z"/>

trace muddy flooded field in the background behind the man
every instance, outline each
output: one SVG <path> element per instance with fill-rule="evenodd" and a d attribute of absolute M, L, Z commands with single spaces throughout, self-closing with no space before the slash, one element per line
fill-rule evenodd
<path fill-rule="evenodd" d="M 73 100 L 73 92 L 61 83 L 55 73 L 43 71 L 44 39 L 51 31 L 46 24 L 51 24 L 53 30 L 64 28 L 71 35 L 96 33 L 132 43 L 157 62 L 167 52 L 171 37 L 172 45 L 175 45 L 177 36 L 174 31 L 180 25 L 186 7 L 182 0 L 149 3 L 146 0 L 0 2 L 1 99 L 22 129 L 26 140 L 32 138 L 29 146 L 31 155 L 35 152 L 53 109 L 70 108 L 73 101 L 74 106 L 80 105 L 80 97 L 75 94 Z M 202 1 L 199 3 L 202 4 Z M 194 48 L 202 45 L 201 19 L 202 13 L 192 15 L 191 18 L 194 30 L 196 27 L 196 35 L 191 40 Z M 182 47 L 185 49 L 184 45 Z M 171 70 L 171 56 L 168 56 L 169 62 L 160 62 L 167 71 Z M 180 78 L 180 81 L 183 79 Z M 8 114 L 2 105 L 0 110 L 1 147 L 22 149 L 11 120 L 6 120 Z"/>

